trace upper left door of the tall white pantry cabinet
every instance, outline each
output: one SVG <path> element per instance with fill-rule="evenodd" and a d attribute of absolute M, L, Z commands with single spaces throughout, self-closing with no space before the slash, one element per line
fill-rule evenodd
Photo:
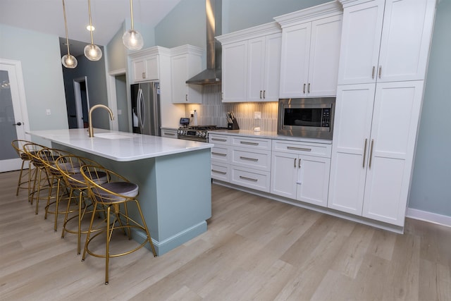
<path fill-rule="evenodd" d="M 383 8 L 384 0 L 345 7 L 338 85 L 376 82 Z"/>

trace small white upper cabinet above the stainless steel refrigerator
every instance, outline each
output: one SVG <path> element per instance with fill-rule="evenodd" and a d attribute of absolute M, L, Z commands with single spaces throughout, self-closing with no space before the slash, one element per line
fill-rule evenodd
<path fill-rule="evenodd" d="M 170 49 L 151 47 L 130 54 L 132 82 L 144 82 L 160 79 L 161 56 L 169 56 Z"/>

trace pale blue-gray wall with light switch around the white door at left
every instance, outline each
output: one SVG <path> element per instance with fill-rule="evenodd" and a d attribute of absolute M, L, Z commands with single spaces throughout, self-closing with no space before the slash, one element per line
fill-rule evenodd
<path fill-rule="evenodd" d="M 30 130 L 68 128 L 58 37 L 0 24 L 0 57 L 22 62 Z"/>

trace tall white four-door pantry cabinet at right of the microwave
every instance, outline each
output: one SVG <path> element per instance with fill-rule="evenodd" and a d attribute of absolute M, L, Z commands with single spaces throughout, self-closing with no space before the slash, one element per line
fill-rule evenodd
<path fill-rule="evenodd" d="M 435 0 L 342 0 L 328 207 L 404 226 Z"/>

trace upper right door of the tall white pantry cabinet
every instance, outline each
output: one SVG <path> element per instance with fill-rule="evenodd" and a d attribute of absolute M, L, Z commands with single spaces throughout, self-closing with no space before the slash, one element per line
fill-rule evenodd
<path fill-rule="evenodd" d="M 378 82 L 424 80 L 435 0 L 386 0 Z"/>

